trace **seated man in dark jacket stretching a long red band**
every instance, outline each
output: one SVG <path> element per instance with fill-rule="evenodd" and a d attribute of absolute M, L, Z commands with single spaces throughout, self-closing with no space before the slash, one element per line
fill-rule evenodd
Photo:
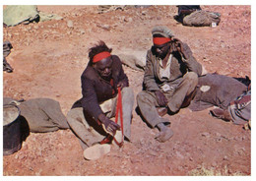
<path fill-rule="evenodd" d="M 128 88 L 128 78 L 120 59 L 111 55 L 111 51 L 103 41 L 90 49 L 90 61 L 81 76 L 83 97 L 74 103 L 67 115 L 68 123 L 84 150 L 101 143 L 96 147 L 97 152 L 93 152 L 93 158 L 110 151 L 110 146 L 102 143 L 109 142 L 120 130 L 120 119 L 117 123 L 110 120 L 116 113 L 118 88 L 122 96 L 123 135 L 128 141 L 131 137 L 134 94 Z M 95 157 L 96 153 L 98 156 Z M 91 159 L 88 155 L 85 157 Z"/>

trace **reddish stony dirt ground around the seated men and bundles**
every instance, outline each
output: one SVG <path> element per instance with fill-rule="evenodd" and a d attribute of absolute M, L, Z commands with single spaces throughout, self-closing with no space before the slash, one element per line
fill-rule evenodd
<path fill-rule="evenodd" d="M 188 43 L 195 58 L 210 73 L 251 78 L 251 7 L 201 6 L 222 14 L 216 28 L 183 27 L 173 16 L 175 6 L 131 7 L 103 14 L 97 6 L 38 6 L 63 20 L 3 29 L 12 53 L 13 73 L 3 73 L 3 96 L 30 99 L 49 97 L 60 102 L 66 115 L 81 97 L 80 76 L 88 63 L 88 49 L 98 40 L 113 54 L 147 51 L 154 26 L 167 26 Z M 68 27 L 68 22 L 73 25 Z M 142 90 L 143 72 L 124 66 L 135 94 Z M 22 149 L 3 157 L 6 175 L 251 175 L 251 132 L 215 119 L 209 109 L 165 115 L 174 136 L 157 142 L 133 111 L 132 142 L 88 161 L 71 130 L 31 133 Z"/>

